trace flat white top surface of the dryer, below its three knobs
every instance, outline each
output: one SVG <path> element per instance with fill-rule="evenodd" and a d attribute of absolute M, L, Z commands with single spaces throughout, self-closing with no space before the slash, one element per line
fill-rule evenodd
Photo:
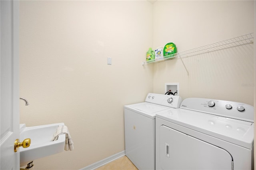
<path fill-rule="evenodd" d="M 156 117 L 252 149 L 254 140 L 254 123 L 252 122 L 186 109 L 158 112 Z"/>

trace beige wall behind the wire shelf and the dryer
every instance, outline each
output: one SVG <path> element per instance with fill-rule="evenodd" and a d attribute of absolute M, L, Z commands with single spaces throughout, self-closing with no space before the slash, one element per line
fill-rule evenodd
<path fill-rule="evenodd" d="M 156 1 L 153 47 L 174 42 L 179 52 L 254 32 L 253 1 Z M 156 23 L 164 23 L 157 24 Z M 154 64 L 154 93 L 179 82 L 182 99 L 254 102 L 253 44 Z"/>

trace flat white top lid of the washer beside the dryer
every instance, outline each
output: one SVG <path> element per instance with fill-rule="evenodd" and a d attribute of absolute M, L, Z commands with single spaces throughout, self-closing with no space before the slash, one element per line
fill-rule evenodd
<path fill-rule="evenodd" d="M 138 114 L 142 114 L 152 119 L 155 118 L 156 112 L 170 109 L 169 107 L 166 107 L 166 106 L 160 106 L 158 104 L 152 104 L 148 102 L 126 105 L 124 106 L 124 108 L 132 110 Z"/>

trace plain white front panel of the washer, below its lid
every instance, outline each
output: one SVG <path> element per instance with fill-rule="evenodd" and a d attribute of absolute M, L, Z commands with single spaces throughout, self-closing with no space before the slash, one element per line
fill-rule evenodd
<path fill-rule="evenodd" d="M 155 119 L 124 109 L 125 154 L 138 169 L 155 168 Z"/>

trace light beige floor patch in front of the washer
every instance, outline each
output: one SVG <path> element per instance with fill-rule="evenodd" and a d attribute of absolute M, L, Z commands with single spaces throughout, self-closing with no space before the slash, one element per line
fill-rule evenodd
<path fill-rule="evenodd" d="M 123 156 L 114 160 L 96 170 L 138 170 L 134 164 L 126 157 Z"/>

